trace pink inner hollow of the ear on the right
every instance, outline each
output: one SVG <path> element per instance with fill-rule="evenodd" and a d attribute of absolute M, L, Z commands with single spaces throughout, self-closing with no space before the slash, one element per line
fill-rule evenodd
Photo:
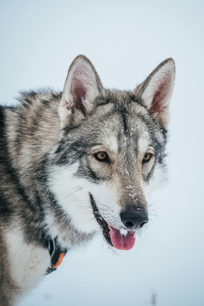
<path fill-rule="evenodd" d="M 157 86 L 157 90 L 154 92 L 150 106 L 151 112 L 163 113 L 165 108 L 165 99 L 169 92 L 170 81 L 171 81 L 171 76 L 166 73 L 165 78 Z"/>

